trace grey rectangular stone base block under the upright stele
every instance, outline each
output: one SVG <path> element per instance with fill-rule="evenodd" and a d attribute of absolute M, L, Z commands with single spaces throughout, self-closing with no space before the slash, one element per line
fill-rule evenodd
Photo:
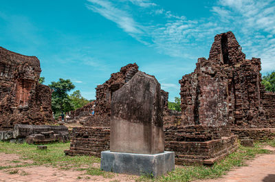
<path fill-rule="evenodd" d="M 108 172 L 157 177 L 175 169 L 175 152 L 143 155 L 107 150 L 101 152 L 100 168 Z"/>

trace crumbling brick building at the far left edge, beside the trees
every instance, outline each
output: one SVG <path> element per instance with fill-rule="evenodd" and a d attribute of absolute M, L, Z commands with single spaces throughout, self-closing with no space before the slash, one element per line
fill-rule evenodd
<path fill-rule="evenodd" d="M 52 92 L 39 84 L 39 59 L 0 47 L 0 130 L 52 122 Z"/>

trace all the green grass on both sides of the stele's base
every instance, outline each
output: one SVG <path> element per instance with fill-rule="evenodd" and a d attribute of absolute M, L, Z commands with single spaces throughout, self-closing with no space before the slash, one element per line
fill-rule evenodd
<path fill-rule="evenodd" d="M 275 147 L 275 139 L 266 141 L 265 144 Z M 253 148 L 239 146 L 239 149 L 225 157 L 225 159 L 215 163 L 213 166 L 183 166 L 176 168 L 165 176 L 152 178 L 151 175 L 135 178 L 136 181 L 193 181 L 197 179 L 214 179 L 222 177 L 234 167 L 245 166 L 245 161 L 254 158 L 259 154 L 267 154 L 269 150 L 261 149 L 261 143 L 256 143 Z M 64 150 L 69 148 L 69 143 L 47 144 L 47 150 L 36 150 L 35 145 L 29 144 L 12 144 L 0 141 L 0 152 L 8 154 L 21 155 L 21 160 L 30 159 L 33 163 L 27 163 L 17 166 L 0 166 L 0 170 L 19 168 L 24 166 L 53 166 L 65 170 L 73 169 L 85 171 L 85 174 L 112 178 L 115 176 L 112 172 L 104 172 L 99 168 L 93 167 L 93 163 L 99 163 L 97 157 L 76 156 L 69 157 L 64 154 Z M 12 161 L 19 163 L 20 161 Z M 17 171 L 18 172 L 18 171 Z"/>

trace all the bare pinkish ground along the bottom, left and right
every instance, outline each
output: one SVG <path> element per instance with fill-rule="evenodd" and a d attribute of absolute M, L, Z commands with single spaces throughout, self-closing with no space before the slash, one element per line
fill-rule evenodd
<path fill-rule="evenodd" d="M 235 168 L 221 179 L 197 182 L 275 182 L 275 148 L 265 146 L 274 154 L 259 155 L 248 161 L 248 166 Z M 0 168 L 32 164 L 21 160 L 18 155 L 0 153 Z M 91 176 L 83 171 L 59 170 L 47 166 L 25 166 L 0 170 L 0 181 L 135 181 L 136 177 L 126 174 L 113 174 L 112 177 Z"/>

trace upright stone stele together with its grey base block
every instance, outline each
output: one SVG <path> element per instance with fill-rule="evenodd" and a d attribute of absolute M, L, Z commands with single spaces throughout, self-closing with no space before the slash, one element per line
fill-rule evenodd
<path fill-rule="evenodd" d="M 142 71 L 111 100 L 110 150 L 100 168 L 109 172 L 159 176 L 175 169 L 175 153 L 164 152 L 160 84 Z"/>

